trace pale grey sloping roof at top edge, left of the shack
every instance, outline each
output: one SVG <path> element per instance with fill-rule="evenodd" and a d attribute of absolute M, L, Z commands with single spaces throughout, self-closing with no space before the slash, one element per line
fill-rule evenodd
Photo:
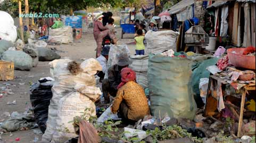
<path fill-rule="evenodd" d="M 185 10 L 185 8 L 187 6 L 190 6 L 192 4 L 194 4 L 194 0 L 182 0 L 179 3 L 177 3 L 176 5 L 172 6 L 168 12 L 170 14 L 179 13 L 179 12 Z"/>

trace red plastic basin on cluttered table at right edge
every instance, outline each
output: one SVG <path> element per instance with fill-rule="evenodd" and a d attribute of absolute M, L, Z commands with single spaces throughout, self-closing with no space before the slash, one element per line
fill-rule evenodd
<path fill-rule="evenodd" d="M 235 67 L 255 69 L 255 56 L 243 55 L 246 48 L 228 49 L 228 59 Z"/>

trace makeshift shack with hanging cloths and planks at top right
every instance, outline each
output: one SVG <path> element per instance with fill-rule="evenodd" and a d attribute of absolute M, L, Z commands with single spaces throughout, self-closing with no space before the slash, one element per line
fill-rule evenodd
<path fill-rule="evenodd" d="M 255 47 L 255 1 L 216 1 L 207 7 L 205 15 L 208 15 L 206 20 L 214 16 L 214 23 L 205 25 L 204 29 L 213 27 L 209 34 L 218 38 L 216 47 L 231 44 Z"/>

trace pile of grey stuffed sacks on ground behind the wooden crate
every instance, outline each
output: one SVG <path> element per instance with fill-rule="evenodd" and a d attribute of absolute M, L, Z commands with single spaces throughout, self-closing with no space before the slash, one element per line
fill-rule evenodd
<path fill-rule="evenodd" d="M 16 70 L 30 70 L 38 65 L 38 61 L 52 61 L 61 56 L 47 48 L 44 41 L 28 39 L 24 44 L 18 39 L 14 44 L 11 41 L 0 40 L 0 59 L 13 61 Z"/>

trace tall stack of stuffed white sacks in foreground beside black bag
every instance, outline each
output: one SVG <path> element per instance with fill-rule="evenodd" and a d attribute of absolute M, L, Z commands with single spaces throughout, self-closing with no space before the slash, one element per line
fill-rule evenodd
<path fill-rule="evenodd" d="M 80 70 L 72 74 L 72 63 L 74 62 L 70 59 L 54 60 L 49 63 L 55 83 L 52 87 L 53 97 L 49 105 L 43 141 L 64 142 L 76 137 L 73 118 L 84 114 L 85 109 L 89 109 L 86 111 L 87 120 L 89 115 L 96 115 L 94 102 L 99 99 L 101 91 L 96 87 L 94 75 L 97 70 L 102 70 L 102 67 L 97 60 L 90 58 L 82 62 Z M 76 64 L 72 67 L 76 67 Z"/>

